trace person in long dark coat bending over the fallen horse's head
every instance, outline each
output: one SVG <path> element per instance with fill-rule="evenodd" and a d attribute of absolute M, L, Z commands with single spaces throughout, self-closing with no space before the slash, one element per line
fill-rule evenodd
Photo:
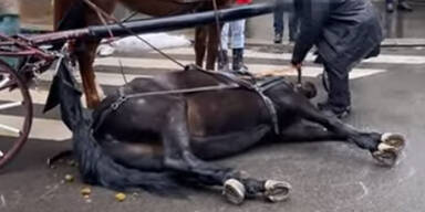
<path fill-rule="evenodd" d="M 300 68 L 315 45 L 318 59 L 329 76 L 328 100 L 318 107 L 340 118 L 349 115 L 349 73 L 361 60 L 376 56 L 383 40 L 379 15 L 369 0 L 297 0 L 300 34 L 292 65 Z"/>

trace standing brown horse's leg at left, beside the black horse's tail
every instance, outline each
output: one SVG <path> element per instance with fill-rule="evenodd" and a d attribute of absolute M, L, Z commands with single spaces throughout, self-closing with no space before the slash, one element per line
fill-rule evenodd
<path fill-rule="evenodd" d="M 80 45 L 79 50 L 76 51 L 76 57 L 80 64 L 80 74 L 83 82 L 85 99 L 89 108 L 96 108 L 101 103 L 93 68 L 97 44 L 99 41 L 86 41 Z"/>

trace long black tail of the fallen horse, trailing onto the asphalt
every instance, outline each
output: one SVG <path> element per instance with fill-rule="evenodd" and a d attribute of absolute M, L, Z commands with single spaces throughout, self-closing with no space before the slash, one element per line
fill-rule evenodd
<path fill-rule="evenodd" d="M 142 188 L 158 194 L 179 194 L 178 183 L 170 172 L 147 172 L 127 168 L 105 153 L 93 137 L 92 116 L 81 105 L 81 92 L 66 62 L 60 68 L 50 88 L 45 110 L 60 105 L 63 123 L 73 132 L 73 150 L 83 181 L 113 190 Z M 167 191 L 167 192 L 166 192 Z"/>

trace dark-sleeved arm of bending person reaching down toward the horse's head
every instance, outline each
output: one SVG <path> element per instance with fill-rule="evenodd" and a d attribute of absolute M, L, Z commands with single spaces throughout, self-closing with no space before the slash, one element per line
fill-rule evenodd
<path fill-rule="evenodd" d="M 330 0 L 297 0 L 301 3 L 297 15 L 301 28 L 292 54 L 292 65 L 300 66 L 307 53 L 322 34 L 323 26 L 330 14 Z"/>

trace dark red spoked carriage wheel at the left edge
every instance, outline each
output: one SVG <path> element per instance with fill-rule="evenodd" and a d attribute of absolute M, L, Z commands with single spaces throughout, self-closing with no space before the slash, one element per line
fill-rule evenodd
<path fill-rule="evenodd" d="M 0 168 L 25 144 L 32 124 L 32 100 L 28 86 L 0 59 Z"/>

